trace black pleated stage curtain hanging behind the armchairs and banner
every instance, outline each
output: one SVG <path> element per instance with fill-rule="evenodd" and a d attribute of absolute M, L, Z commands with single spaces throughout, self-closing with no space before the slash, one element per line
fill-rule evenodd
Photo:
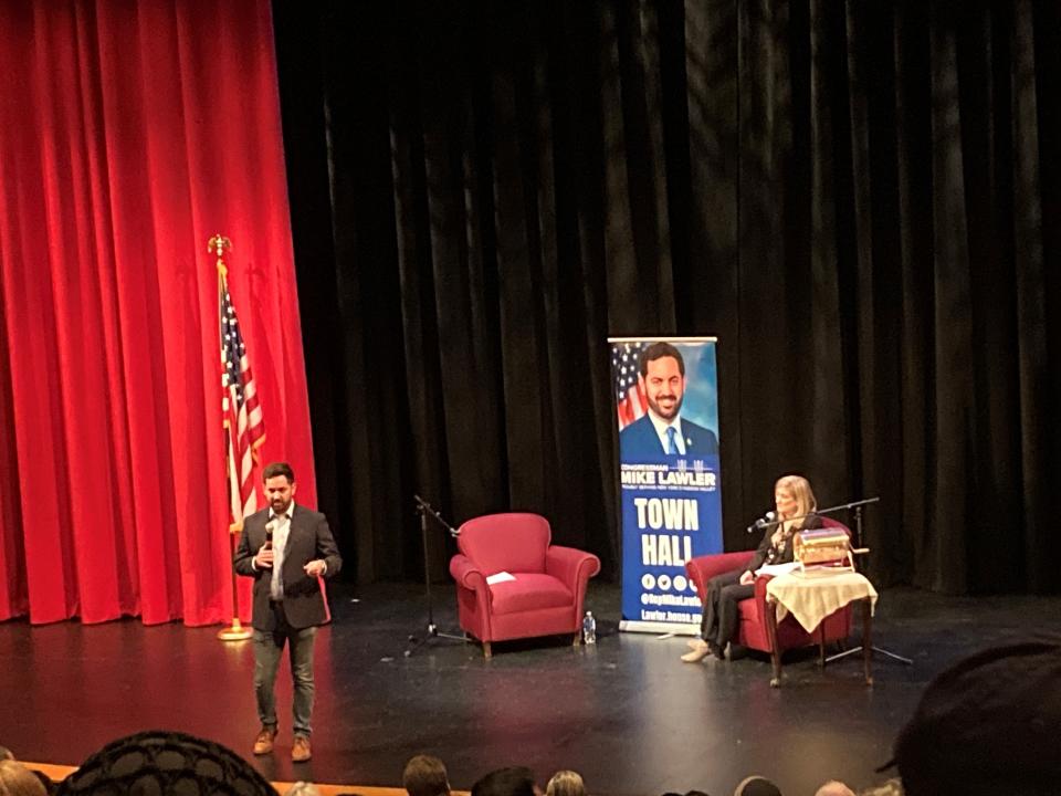
<path fill-rule="evenodd" d="M 276 2 L 323 506 L 411 495 L 619 567 L 608 335 L 718 337 L 727 548 L 797 471 L 876 580 L 1052 591 L 1061 10 Z M 431 532 L 441 574 L 443 534 Z"/>

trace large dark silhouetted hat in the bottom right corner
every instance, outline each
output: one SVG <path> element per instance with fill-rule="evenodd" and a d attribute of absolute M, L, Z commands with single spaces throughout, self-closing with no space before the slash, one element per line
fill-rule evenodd
<path fill-rule="evenodd" d="M 1059 743 L 1061 643 L 1029 641 L 979 652 L 933 680 L 893 763 L 907 796 L 1055 796 Z"/>

